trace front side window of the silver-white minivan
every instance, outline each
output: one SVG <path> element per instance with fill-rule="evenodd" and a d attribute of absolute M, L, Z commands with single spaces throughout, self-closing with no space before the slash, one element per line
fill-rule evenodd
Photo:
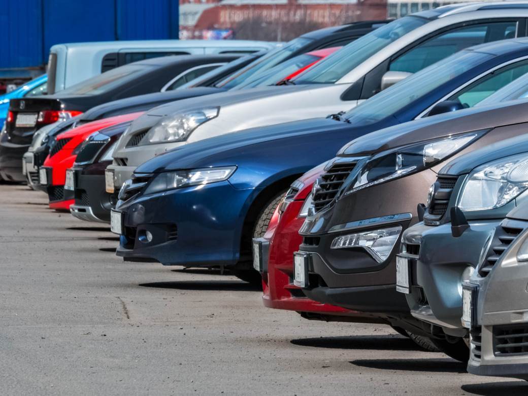
<path fill-rule="evenodd" d="M 390 63 L 389 70 L 416 73 L 464 48 L 489 41 L 513 38 L 516 26 L 516 21 L 490 22 L 450 30 L 407 51 Z"/>

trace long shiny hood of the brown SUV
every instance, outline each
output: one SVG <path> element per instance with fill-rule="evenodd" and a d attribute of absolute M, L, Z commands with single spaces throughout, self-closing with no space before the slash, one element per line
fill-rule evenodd
<path fill-rule="evenodd" d="M 528 100 L 474 107 L 417 119 L 358 137 L 338 155 L 372 155 L 402 145 L 528 121 Z"/>

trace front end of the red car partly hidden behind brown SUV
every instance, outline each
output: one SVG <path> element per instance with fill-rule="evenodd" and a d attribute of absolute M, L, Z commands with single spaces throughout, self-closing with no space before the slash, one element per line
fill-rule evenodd
<path fill-rule="evenodd" d="M 369 314 L 310 300 L 293 284 L 294 252 L 299 250 L 302 242 L 298 231 L 309 206 L 306 198 L 323 168 L 324 164 L 319 165 L 291 185 L 286 198 L 275 210 L 264 237 L 254 240 L 259 245 L 255 249 L 262 252 L 262 256 L 266 256 L 267 250 L 267 265 L 257 264 L 259 254 L 255 256 L 255 267 L 259 266 L 262 274 L 262 301 L 266 307 L 297 311 L 307 319 L 384 323 L 371 319 Z M 265 257 L 260 260 L 263 261 L 266 261 Z"/>

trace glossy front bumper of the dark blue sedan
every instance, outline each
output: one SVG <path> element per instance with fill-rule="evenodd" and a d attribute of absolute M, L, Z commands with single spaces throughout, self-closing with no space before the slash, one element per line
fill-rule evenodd
<path fill-rule="evenodd" d="M 250 263 L 251 252 L 241 253 L 240 244 L 244 210 L 257 192 L 222 181 L 119 201 L 124 235 L 117 255 L 164 265 Z M 146 240 L 147 231 L 152 241 Z"/>

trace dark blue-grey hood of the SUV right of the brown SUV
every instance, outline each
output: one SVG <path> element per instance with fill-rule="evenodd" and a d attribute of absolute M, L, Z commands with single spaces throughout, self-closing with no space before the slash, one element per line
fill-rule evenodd
<path fill-rule="evenodd" d="M 459 176 L 469 173 L 487 162 L 522 153 L 528 153 L 528 135 L 512 137 L 461 155 L 446 164 L 439 173 Z M 528 159 L 528 155 L 526 155 L 526 159 Z"/>

